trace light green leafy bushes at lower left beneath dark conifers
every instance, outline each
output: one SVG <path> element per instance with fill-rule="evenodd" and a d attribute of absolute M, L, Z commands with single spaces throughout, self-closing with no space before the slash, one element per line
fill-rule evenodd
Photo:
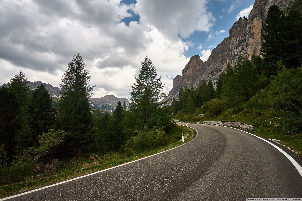
<path fill-rule="evenodd" d="M 48 133 L 38 136 L 38 147 L 27 147 L 16 156 L 17 161 L 8 164 L 6 151 L 0 146 L 0 185 L 25 181 L 27 178 L 43 177 L 55 174 L 58 159 L 53 158 L 56 147 L 60 146 L 69 135 L 64 130 L 49 129 Z M 51 160 L 50 160 L 51 159 Z M 50 160 L 50 161 L 49 161 Z M 49 162 L 48 162 L 49 161 Z"/>

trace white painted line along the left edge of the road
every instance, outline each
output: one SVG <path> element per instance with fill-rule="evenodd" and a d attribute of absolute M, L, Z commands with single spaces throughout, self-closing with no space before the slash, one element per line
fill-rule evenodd
<path fill-rule="evenodd" d="M 180 125 L 180 124 L 179 124 L 179 125 Z M 180 125 L 180 126 L 184 126 L 184 125 Z M 190 128 L 192 128 L 192 127 L 190 127 Z M 194 128 L 192 128 L 192 129 L 194 129 Z M 194 139 L 198 136 L 198 131 L 197 131 L 196 129 L 194 129 L 194 130 L 196 131 L 196 136 L 195 136 L 192 140 L 194 140 Z M 190 140 L 189 142 L 191 142 L 192 140 Z M 180 147 L 180 146 L 183 146 L 183 145 L 185 145 L 185 144 L 187 144 L 187 143 L 189 143 L 189 142 L 186 142 L 186 143 L 184 143 L 184 144 L 181 144 L 181 145 L 179 145 L 179 146 L 176 146 L 176 147 L 174 147 L 174 148 L 172 148 L 172 149 L 175 149 L 175 148 L 178 148 L 178 147 Z M 69 180 L 67 180 L 67 181 L 62 181 L 62 182 L 59 182 L 59 183 L 56 183 L 56 184 L 52 184 L 52 185 L 49 185 L 49 186 L 37 188 L 37 189 L 31 190 L 31 191 L 27 191 L 27 192 L 24 192 L 24 193 L 20 193 L 20 194 L 17 194 L 17 195 L 5 197 L 5 198 L 0 199 L 0 201 L 2 201 L 2 200 L 7 200 L 7 199 L 11 199 L 11 198 L 15 198 L 15 197 L 19 197 L 19 196 L 26 195 L 26 194 L 29 194 L 29 193 L 33 193 L 33 192 L 36 192 L 36 191 L 39 191 L 39 190 L 43 190 L 43 189 L 46 189 L 46 188 L 50 188 L 50 187 L 53 187 L 53 186 L 57 186 L 57 185 L 60 185 L 60 184 L 64 184 L 64 183 L 67 183 L 67 182 L 69 182 L 69 181 L 74 181 L 74 180 L 77 180 L 77 179 L 80 179 L 80 178 L 83 178 L 83 177 L 88 177 L 88 176 L 93 175 L 93 174 L 98 174 L 98 173 L 100 173 L 100 172 L 104 172 L 104 171 L 107 171 L 107 170 L 111 170 L 111 169 L 114 169 L 114 168 L 118 168 L 118 167 L 120 167 L 120 166 L 127 165 L 127 164 L 130 164 L 130 163 L 133 163 L 133 162 L 137 162 L 137 161 L 140 161 L 140 160 L 143 160 L 143 159 L 152 157 L 152 156 L 154 156 L 154 155 L 158 155 L 158 154 L 161 154 L 161 153 L 170 151 L 170 150 L 172 150 L 172 149 L 168 149 L 168 150 L 165 150 L 165 151 L 163 151 L 163 152 L 159 152 L 159 153 L 156 153 L 156 154 L 153 154 L 153 155 L 149 155 L 149 156 L 146 156 L 146 157 L 144 157 L 144 158 L 137 159 L 137 160 L 135 160 L 135 161 L 130 161 L 130 162 L 127 162 L 127 163 L 124 163 L 124 164 L 121 164 L 121 165 L 117 165 L 117 166 L 114 166 L 114 167 L 111 167 L 111 168 L 108 168 L 108 169 L 104 169 L 104 170 L 100 170 L 100 171 L 93 172 L 93 173 L 90 173 L 90 174 L 86 174 L 86 175 L 83 175 L 83 176 L 81 176 L 81 177 L 76 177 L 76 178 L 73 178 L 73 179 L 69 179 Z"/>

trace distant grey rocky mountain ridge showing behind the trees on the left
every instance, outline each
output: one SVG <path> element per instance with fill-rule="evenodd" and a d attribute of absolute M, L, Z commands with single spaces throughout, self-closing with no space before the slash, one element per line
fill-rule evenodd
<path fill-rule="evenodd" d="M 53 97 L 55 99 L 59 99 L 59 92 L 60 92 L 59 87 L 54 87 L 51 84 L 49 84 L 49 83 L 46 84 L 46 83 L 43 83 L 42 81 L 36 81 L 36 82 L 27 81 L 27 83 L 28 83 L 28 86 L 31 86 L 32 90 L 37 89 L 38 86 L 43 84 L 45 86 L 46 90 L 48 91 L 48 93 L 50 93 L 51 97 Z M 9 83 L 7 83 L 7 84 L 4 83 L 2 86 L 9 87 Z M 106 95 L 101 98 L 91 98 L 90 100 L 91 100 L 94 108 L 104 109 L 104 110 L 108 110 L 108 111 L 114 111 L 118 102 L 123 103 L 125 101 L 126 104 L 129 105 L 128 99 L 117 98 L 113 95 Z"/>

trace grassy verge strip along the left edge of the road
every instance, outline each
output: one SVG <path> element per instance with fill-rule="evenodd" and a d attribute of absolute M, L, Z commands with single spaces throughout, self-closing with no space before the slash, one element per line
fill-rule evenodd
<path fill-rule="evenodd" d="M 190 141 L 194 137 L 192 129 L 188 127 L 177 126 L 170 130 L 170 132 L 168 133 L 168 135 L 170 136 L 170 142 L 167 146 L 131 153 L 108 152 L 105 154 L 100 154 L 95 152 L 85 155 L 80 159 L 62 160 L 58 164 L 55 175 L 46 176 L 43 178 L 26 178 L 25 181 L 22 182 L 0 186 L 0 197 L 5 197 L 50 184 L 55 184 L 61 181 L 66 181 L 75 177 L 111 168 L 168 149 L 172 149 L 183 144 L 181 140 L 182 133 L 184 133 L 185 136 L 185 143 Z"/>

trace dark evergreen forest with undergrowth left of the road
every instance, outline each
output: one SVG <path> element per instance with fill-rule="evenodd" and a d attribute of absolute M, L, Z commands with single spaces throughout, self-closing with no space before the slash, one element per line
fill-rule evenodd
<path fill-rule="evenodd" d="M 39 183 L 66 170 L 74 177 L 81 173 L 70 171 L 83 171 L 87 164 L 104 169 L 175 144 L 182 132 L 191 133 L 176 126 L 171 107 L 160 107 L 165 85 L 152 61 L 146 56 L 141 64 L 131 86 L 131 104 L 118 102 L 111 115 L 92 107 L 95 86 L 89 85 L 79 53 L 67 64 L 57 104 L 42 84 L 31 90 L 24 72 L 15 74 L 9 88 L 0 89 L 0 185 Z"/>

